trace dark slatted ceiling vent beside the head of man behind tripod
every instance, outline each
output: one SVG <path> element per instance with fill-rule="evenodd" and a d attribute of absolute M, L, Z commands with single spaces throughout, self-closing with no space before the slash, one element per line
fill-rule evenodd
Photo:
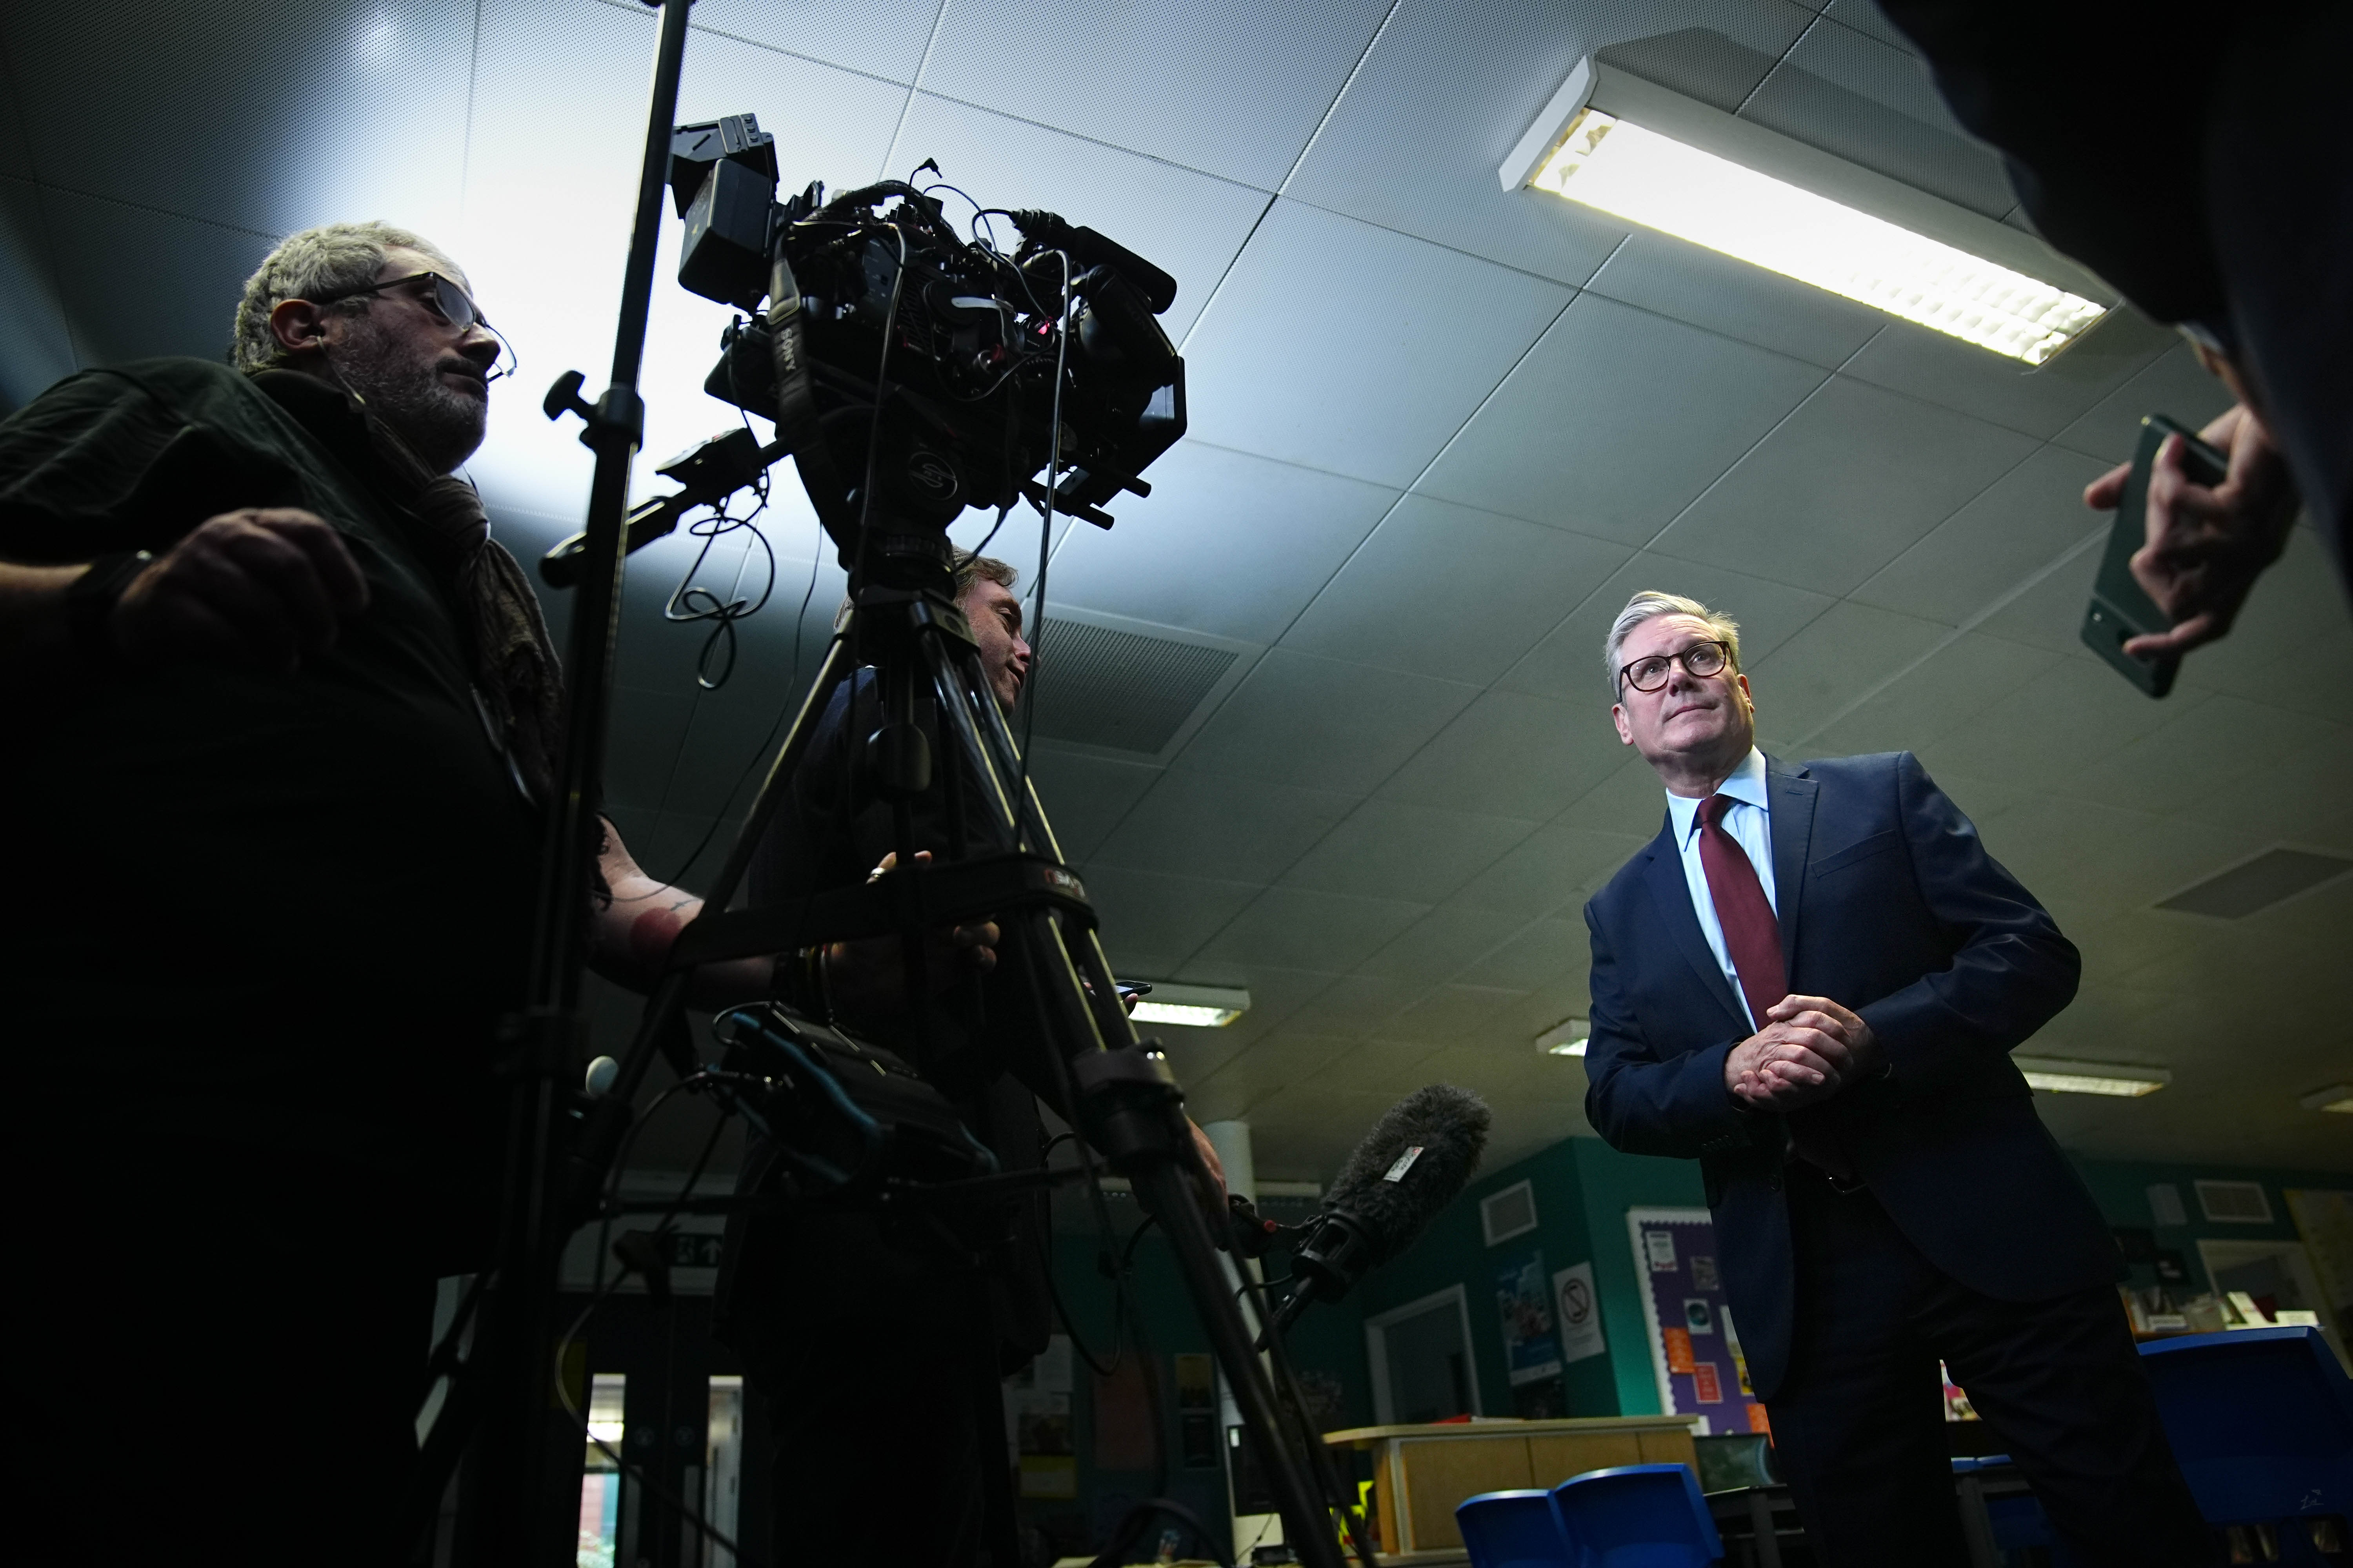
<path fill-rule="evenodd" d="M 1033 698 L 1038 736 L 1158 755 L 1233 661 L 1231 649 L 1049 616 Z"/>

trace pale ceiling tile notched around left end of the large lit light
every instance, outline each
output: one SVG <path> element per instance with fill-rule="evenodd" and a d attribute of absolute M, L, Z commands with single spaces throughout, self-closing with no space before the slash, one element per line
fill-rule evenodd
<path fill-rule="evenodd" d="M 1586 54 L 1732 108 L 1812 21 L 1779 0 L 1478 7 L 1407 0 L 1287 195 L 1579 284 L 1626 228 L 1494 169 Z"/>

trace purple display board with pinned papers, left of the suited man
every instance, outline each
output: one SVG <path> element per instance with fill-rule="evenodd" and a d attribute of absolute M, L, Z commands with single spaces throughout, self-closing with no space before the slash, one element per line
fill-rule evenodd
<path fill-rule="evenodd" d="M 1642 1288 L 1659 1408 L 1701 1418 L 1701 1432 L 1765 1432 L 1765 1406 L 1748 1387 L 1748 1356 L 1715 1267 L 1708 1211 L 1628 1208 L 1626 1237 Z"/>

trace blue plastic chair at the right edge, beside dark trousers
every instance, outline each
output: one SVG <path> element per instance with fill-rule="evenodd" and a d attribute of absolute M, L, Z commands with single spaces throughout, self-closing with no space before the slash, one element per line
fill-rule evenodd
<path fill-rule="evenodd" d="M 2325 1561 L 2301 1521 L 2353 1514 L 2353 1378 L 2320 1331 L 2151 1340 L 2141 1371 L 2207 1523 L 2268 1523 L 2282 1563 Z"/>

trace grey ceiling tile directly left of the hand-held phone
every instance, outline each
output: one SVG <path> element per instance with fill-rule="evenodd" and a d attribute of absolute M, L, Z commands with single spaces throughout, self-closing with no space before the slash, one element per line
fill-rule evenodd
<path fill-rule="evenodd" d="M 1887 562 L 1854 599 L 1962 625 L 2087 534 L 2104 531 L 2101 515 L 2082 503 L 2082 487 L 2104 468 L 2078 451 L 2042 447 Z"/>

